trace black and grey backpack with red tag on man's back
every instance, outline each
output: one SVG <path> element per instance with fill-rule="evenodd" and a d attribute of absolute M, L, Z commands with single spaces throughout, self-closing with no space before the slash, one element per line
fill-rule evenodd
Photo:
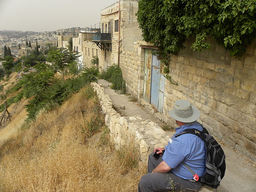
<path fill-rule="evenodd" d="M 182 162 L 182 164 L 193 174 L 194 181 L 198 180 L 206 187 L 218 188 L 226 170 L 224 151 L 204 127 L 203 131 L 199 131 L 197 129 L 186 129 L 183 132 L 176 134 L 175 137 L 186 133 L 197 135 L 204 141 L 206 150 L 205 172 L 202 177 L 198 177 L 198 175 L 193 172 L 186 163 Z"/>

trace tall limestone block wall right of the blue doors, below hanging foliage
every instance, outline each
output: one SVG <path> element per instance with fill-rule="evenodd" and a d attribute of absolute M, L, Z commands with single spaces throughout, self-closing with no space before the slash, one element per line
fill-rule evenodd
<path fill-rule="evenodd" d="M 230 57 L 214 40 L 210 43 L 210 50 L 192 52 L 188 41 L 186 49 L 169 57 L 169 75 L 179 85 L 165 81 L 160 118 L 168 121 L 173 103 L 188 99 L 201 111 L 199 121 L 209 132 L 255 160 L 256 41 L 241 58 Z"/>

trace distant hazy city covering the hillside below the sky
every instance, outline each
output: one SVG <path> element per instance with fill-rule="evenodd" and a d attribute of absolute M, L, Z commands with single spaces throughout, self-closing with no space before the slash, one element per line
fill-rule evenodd
<path fill-rule="evenodd" d="M 44 31 L 44 32 L 35 32 L 35 31 L 16 31 L 16 30 L 1 30 L 0 31 L 0 55 L 3 53 L 4 46 L 10 47 L 12 54 L 17 54 L 19 45 L 20 47 L 25 47 L 26 41 L 30 41 L 31 44 L 38 42 L 38 44 L 55 41 L 57 44 L 58 33 L 79 33 L 80 30 L 88 30 L 89 27 L 80 28 L 66 28 L 58 29 L 56 31 Z"/>

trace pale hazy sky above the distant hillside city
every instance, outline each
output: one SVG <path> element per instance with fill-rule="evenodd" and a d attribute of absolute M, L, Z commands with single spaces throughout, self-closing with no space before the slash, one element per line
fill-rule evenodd
<path fill-rule="evenodd" d="M 90 27 L 118 0 L 0 0 L 0 30 L 53 31 Z"/>

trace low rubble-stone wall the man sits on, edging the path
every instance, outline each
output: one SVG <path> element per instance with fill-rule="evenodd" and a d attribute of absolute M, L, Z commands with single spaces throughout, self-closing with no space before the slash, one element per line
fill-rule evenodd
<path fill-rule="evenodd" d="M 117 148 L 135 140 L 140 148 L 140 160 L 146 162 L 148 155 L 154 151 L 154 148 L 167 145 L 169 136 L 156 123 L 142 119 L 141 116 L 121 117 L 112 108 L 112 101 L 104 93 L 104 88 L 97 83 L 91 83 L 91 85 L 97 92 L 100 106 L 106 115 L 105 122 Z"/>

